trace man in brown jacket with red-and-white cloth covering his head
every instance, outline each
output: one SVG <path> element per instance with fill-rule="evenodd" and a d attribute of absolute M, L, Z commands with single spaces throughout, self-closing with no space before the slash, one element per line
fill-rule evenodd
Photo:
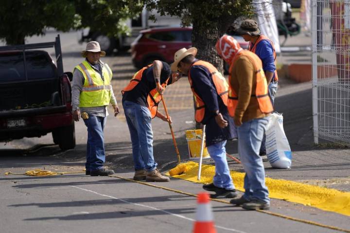
<path fill-rule="evenodd" d="M 216 43 L 218 54 L 230 64 L 227 109 L 238 132 L 238 153 L 245 169 L 245 194 L 230 202 L 247 210 L 269 209 L 265 171 L 259 149 L 268 115 L 273 111 L 267 95 L 262 62 L 251 51 L 243 50 L 229 35 Z"/>

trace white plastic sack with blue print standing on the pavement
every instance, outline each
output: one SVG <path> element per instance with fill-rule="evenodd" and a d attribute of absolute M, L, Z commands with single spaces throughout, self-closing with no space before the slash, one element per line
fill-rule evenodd
<path fill-rule="evenodd" d="M 266 127 L 266 155 L 272 167 L 289 169 L 292 165 L 292 152 L 283 130 L 283 116 L 270 115 Z"/>

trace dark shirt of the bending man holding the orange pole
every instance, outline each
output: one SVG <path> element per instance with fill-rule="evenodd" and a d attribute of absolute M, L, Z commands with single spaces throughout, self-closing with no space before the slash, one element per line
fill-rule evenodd
<path fill-rule="evenodd" d="M 172 84 L 172 76 L 170 66 L 162 62 L 163 68 L 160 72 L 160 83 L 164 83 L 169 77 L 168 85 Z M 156 88 L 156 82 L 153 76 L 153 67 L 145 69 L 142 73 L 142 78 L 139 84 L 137 84 L 131 91 L 126 91 L 123 95 L 122 101 L 131 101 L 138 103 L 142 106 L 148 107 L 147 95 Z M 135 82 L 135 81 L 133 81 Z"/>

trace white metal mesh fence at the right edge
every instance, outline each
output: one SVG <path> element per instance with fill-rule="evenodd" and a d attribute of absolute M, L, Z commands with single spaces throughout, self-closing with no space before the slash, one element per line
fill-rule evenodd
<path fill-rule="evenodd" d="M 350 0 L 311 0 L 314 141 L 350 146 Z"/>

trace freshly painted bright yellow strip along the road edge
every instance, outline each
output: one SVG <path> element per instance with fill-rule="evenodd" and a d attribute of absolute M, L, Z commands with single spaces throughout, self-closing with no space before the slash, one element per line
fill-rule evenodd
<path fill-rule="evenodd" d="M 182 173 L 184 172 L 184 173 Z M 203 165 L 200 182 L 197 181 L 198 163 L 179 164 L 171 169 L 172 177 L 195 182 L 211 183 L 215 174 L 215 166 Z M 166 175 L 170 175 L 167 173 Z M 182 173 L 182 174 L 181 174 Z M 175 175 L 179 174 L 179 175 Z M 231 177 L 237 190 L 244 192 L 245 173 L 231 171 Z M 332 211 L 350 216 L 350 193 L 336 189 L 303 184 L 294 181 L 266 178 L 269 197 L 313 206 L 321 210 Z"/>

